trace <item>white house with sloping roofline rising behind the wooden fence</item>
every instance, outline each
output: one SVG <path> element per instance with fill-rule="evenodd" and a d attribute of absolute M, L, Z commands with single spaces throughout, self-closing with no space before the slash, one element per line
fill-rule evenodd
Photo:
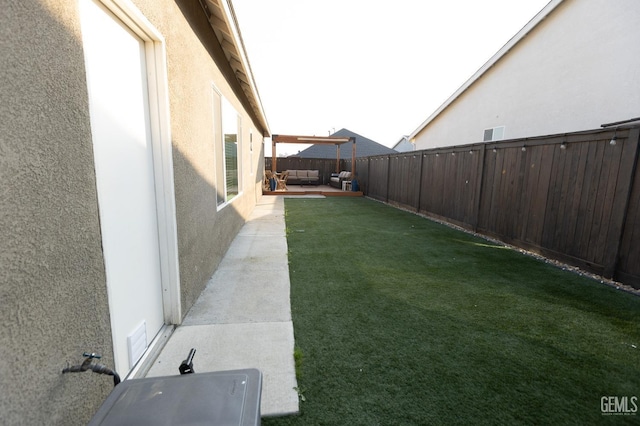
<path fill-rule="evenodd" d="M 639 41 L 637 0 L 552 0 L 409 138 L 426 149 L 638 117 Z"/>

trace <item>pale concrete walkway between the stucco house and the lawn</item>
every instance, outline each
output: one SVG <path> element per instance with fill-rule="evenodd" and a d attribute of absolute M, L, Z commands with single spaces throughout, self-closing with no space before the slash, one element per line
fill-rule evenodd
<path fill-rule="evenodd" d="M 196 348 L 196 374 L 257 368 L 262 415 L 297 413 L 289 286 L 284 200 L 263 196 L 147 377 L 177 374 Z"/>

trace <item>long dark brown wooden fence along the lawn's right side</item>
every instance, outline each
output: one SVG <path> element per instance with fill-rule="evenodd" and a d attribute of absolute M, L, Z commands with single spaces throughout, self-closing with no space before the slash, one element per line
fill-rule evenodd
<path fill-rule="evenodd" d="M 357 178 L 371 198 L 640 288 L 639 135 L 627 127 L 360 158 Z"/>

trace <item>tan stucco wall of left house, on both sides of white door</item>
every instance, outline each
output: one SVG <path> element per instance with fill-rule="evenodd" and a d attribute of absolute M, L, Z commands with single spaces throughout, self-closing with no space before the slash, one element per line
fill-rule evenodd
<path fill-rule="evenodd" d="M 259 196 L 263 132 L 198 2 L 133 3 L 165 39 L 184 316 Z M 61 371 L 85 351 L 112 367 L 113 346 L 77 1 L 3 5 L 0 57 L 2 423 L 86 424 L 112 381 Z M 246 139 L 243 192 L 221 209 L 213 87 Z"/>

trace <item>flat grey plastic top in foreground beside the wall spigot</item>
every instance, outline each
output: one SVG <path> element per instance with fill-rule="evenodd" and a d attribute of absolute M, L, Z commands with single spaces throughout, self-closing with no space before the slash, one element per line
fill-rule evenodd
<path fill-rule="evenodd" d="M 256 369 L 125 380 L 89 425 L 260 425 Z"/>

